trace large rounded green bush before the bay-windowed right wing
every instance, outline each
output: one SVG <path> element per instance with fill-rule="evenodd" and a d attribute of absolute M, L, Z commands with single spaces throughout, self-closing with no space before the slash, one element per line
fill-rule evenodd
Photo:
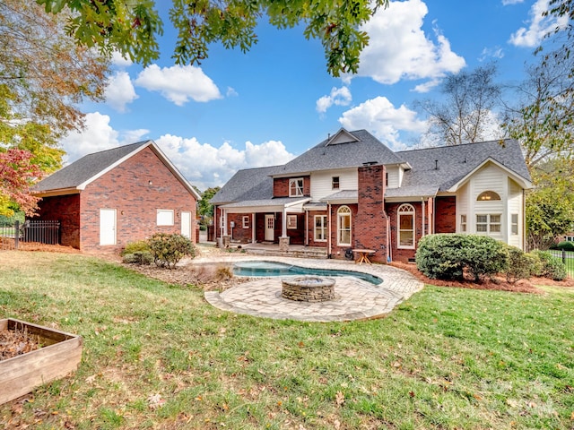
<path fill-rule="evenodd" d="M 463 280 L 465 270 L 474 280 L 506 271 L 506 245 L 489 236 L 439 234 L 422 237 L 415 255 L 417 269 L 439 280 Z"/>

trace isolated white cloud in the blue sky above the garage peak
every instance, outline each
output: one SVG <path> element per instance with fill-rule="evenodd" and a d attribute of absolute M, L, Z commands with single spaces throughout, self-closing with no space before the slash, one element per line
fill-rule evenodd
<path fill-rule="evenodd" d="M 201 68 L 193 65 L 160 67 L 152 64 L 138 74 L 135 84 L 150 91 L 158 91 L 178 106 L 193 99 L 205 102 L 221 99 L 222 95 Z"/>

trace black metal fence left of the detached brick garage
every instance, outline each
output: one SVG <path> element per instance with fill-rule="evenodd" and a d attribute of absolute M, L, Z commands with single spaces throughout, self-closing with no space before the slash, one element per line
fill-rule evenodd
<path fill-rule="evenodd" d="M 0 249 L 18 249 L 21 243 L 58 245 L 60 221 L 27 219 L 0 223 Z"/>

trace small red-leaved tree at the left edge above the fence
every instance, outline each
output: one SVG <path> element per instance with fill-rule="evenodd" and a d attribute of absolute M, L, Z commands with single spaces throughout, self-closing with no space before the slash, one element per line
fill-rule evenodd
<path fill-rule="evenodd" d="M 37 165 L 31 162 L 28 150 L 11 148 L 0 151 L 0 214 L 11 217 L 14 204 L 26 215 L 37 209 L 39 199 L 30 193 L 30 185 L 41 175 Z"/>

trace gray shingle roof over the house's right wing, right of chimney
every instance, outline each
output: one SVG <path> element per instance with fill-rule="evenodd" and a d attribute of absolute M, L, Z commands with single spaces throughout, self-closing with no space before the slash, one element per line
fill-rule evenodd
<path fill-rule="evenodd" d="M 447 191 L 489 158 L 526 181 L 531 181 L 520 144 L 513 139 L 403 150 L 396 154 L 407 161 L 412 169 L 404 172 L 401 188 L 392 193 L 400 194 L 403 188 L 408 190 L 420 185 L 436 185 L 439 191 Z"/>

